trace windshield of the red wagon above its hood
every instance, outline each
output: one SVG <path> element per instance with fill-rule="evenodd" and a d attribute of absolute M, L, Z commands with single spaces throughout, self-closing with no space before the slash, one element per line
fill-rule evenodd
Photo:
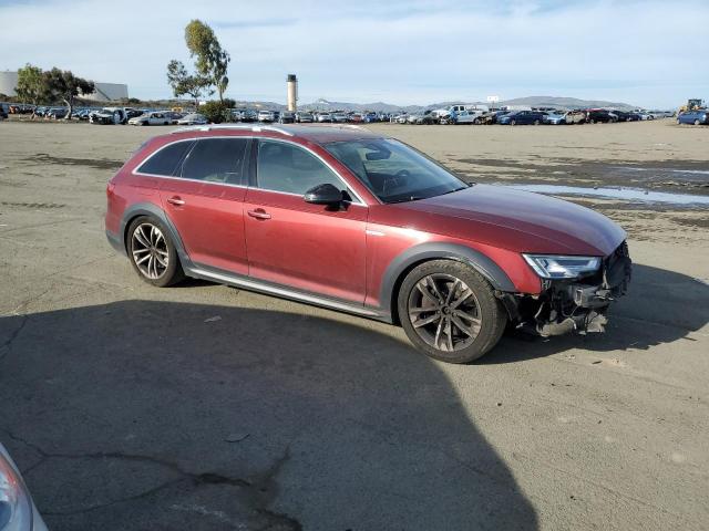
<path fill-rule="evenodd" d="M 333 142 L 325 148 L 382 202 L 425 199 L 470 186 L 425 155 L 390 138 Z"/>

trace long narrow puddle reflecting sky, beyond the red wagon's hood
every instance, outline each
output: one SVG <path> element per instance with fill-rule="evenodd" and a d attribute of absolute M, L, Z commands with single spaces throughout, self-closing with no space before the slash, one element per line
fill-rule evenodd
<path fill-rule="evenodd" d="M 690 194 L 669 194 L 664 191 L 641 190 L 637 188 L 584 188 L 580 186 L 561 185 L 503 185 L 516 190 L 537 191 L 562 196 L 603 197 L 623 199 L 631 202 L 664 202 L 671 205 L 707 205 L 709 196 L 692 196 Z"/>

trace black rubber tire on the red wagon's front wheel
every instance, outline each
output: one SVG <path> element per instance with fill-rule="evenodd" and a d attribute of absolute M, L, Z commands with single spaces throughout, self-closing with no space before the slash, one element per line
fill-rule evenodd
<path fill-rule="evenodd" d="M 449 291 L 444 292 L 439 290 L 439 294 L 444 296 L 450 303 L 444 302 L 444 305 L 441 306 L 440 310 L 425 310 L 427 313 L 424 313 L 420 308 L 413 308 L 418 304 L 415 302 L 417 300 L 425 300 L 430 308 L 439 308 L 432 306 L 432 303 L 423 296 L 419 288 L 420 282 L 427 282 L 431 275 L 438 277 L 439 281 L 443 282 L 441 285 L 445 285 L 448 282 Z M 462 282 L 462 284 L 458 284 L 458 289 L 462 290 L 458 299 L 464 300 L 465 302 L 459 302 L 459 305 L 451 305 L 456 302 L 455 296 L 456 293 L 459 293 L 455 289 L 451 290 L 451 287 L 456 285 L 454 281 Z M 465 298 L 462 296 L 462 293 L 465 293 L 466 290 L 463 290 L 462 287 L 466 287 L 471 292 Z M 497 344 L 507 323 L 507 313 L 502 303 L 495 298 L 494 290 L 490 283 L 471 267 L 453 260 L 432 260 L 414 268 L 405 277 L 399 289 L 397 308 L 401 325 L 411 343 L 428 356 L 448 363 L 470 363 L 483 356 Z M 475 336 L 472 336 L 470 333 L 466 333 L 466 335 L 463 334 L 462 329 L 458 325 L 453 329 L 452 321 L 455 319 L 458 319 L 459 323 L 466 324 L 458 316 L 459 312 L 456 309 L 463 308 L 465 308 L 467 315 L 470 315 L 470 312 L 474 312 L 479 319 L 479 323 L 476 324 L 469 321 L 471 323 L 470 329 L 474 330 L 474 327 L 477 327 Z M 414 312 L 419 317 L 412 316 Z M 452 315 L 452 313 L 454 315 Z M 421 319 L 421 315 L 425 315 L 425 317 Z M 448 332 L 439 332 L 439 329 L 441 331 L 445 329 L 442 327 L 443 325 L 438 324 L 438 322 L 429 323 L 430 327 L 436 329 L 435 336 L 433 336 L 432 330 L 428 330 L 421 324 L 414 326 L 414 319 L 417 321 L 430 321 L 431 319 L 436 319 L 436 316 L 438 322 L 448 323 Z M 425 326 L 429 326 L 429 324 Z M 459 340 L 459 344 L 452 343 L 455 331 L 458 331 L 456 339 Z M 444 337 L 444 334 L 448 335 Z M 431 342 L 433 344 L 431 344 Z M 448 347 L 445 343 L 453 345 L 453 348 Z M 434 346 L 439 344 L 445 346 L 445 348 Z"/>

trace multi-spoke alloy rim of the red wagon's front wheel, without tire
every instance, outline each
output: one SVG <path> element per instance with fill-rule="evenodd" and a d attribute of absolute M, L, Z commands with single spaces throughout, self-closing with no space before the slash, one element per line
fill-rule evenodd
<path fill-rule="evenodd" d="M 409 320 L 415 333 L 439 351 L 465 348 L 480 334 L 482 315 L 475 293 L 462 280 L 433 273 L 409 293 Z"/>

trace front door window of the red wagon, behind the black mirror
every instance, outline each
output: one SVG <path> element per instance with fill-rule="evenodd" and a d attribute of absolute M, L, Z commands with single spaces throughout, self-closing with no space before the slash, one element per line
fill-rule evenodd
<path fill-rule="evenodd" d="M 261 189 L 299 196 L 315 186 L 326 184 L 349 194 L 342 179 L 322 160 L 306 149 L 284 142 L 259 140 L 256 180 Z"/>

